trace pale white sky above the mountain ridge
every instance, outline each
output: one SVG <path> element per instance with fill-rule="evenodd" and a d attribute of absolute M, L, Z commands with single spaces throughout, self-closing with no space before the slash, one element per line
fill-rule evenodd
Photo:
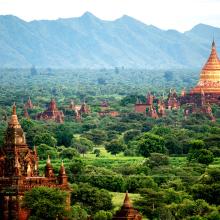
<path fill-rule="evenodd" d="M 186 31 L 198 23 L 220 27 L 220 0 L 0 0 L 0 14 L 26 21 L 79 17 L 104 20 L 126 14 L 162 29 Z"/>

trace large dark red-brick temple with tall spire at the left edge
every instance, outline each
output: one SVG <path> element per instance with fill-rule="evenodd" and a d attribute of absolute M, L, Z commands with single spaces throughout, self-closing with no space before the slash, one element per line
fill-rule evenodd
<path fill-rule="evenodd" d="M 67 207 L 70 206 L 70 188 L 63 163 L 56 177 L 48 158 L 45 176 L 39 176 L 36 148 L 31 150 L 26 144 L 14 105 L 4 145 L 0 148 L 0 219 L 27 220 L 29 212 L 21 206 L 22 198 L 26 191 L 38 186 L 56 187 L 68 192 Z"/>

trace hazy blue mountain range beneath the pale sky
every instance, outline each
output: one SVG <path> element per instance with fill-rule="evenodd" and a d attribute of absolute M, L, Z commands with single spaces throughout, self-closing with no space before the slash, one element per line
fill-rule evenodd
<path fill-rule="evenodd" d="M 129 16 L 103 21 L 89 12 L 31 22 L 0 16 L 0 67 L 201 67 L 213 35 L 219 51 L 220 28 L 205 24 L 180 33 Z"/>

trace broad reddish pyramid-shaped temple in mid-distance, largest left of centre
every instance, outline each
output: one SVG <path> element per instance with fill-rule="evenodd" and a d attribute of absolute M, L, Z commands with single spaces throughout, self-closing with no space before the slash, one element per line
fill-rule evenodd
<path fill-rule="evenodd" d="M 57 123 L 64 122 L 64 114 L 62 111 L 59 111 L 56 105 L 56 101 L 51 99 L 49 107 L 46 111 L 37 114 L 37 120 L 44 120 L 44 121 L 55 121 Z"/>

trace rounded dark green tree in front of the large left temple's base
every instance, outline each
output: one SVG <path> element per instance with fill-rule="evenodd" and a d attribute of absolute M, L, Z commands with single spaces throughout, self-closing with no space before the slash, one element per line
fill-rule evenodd
<path fill-rule="evenodd" d="M 63 219 L 68 216 L 66 196 L 57 188 L 36 187 L 25 192 L 23 206 L 30 210 L 32 219 Z"/>

